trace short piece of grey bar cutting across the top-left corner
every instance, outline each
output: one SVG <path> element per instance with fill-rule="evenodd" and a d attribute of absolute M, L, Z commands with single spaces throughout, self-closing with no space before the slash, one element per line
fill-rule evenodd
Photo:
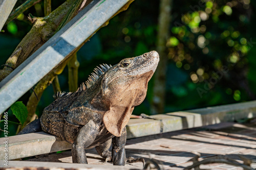
<path fill-rule="evenodd" d="M 2 30 L 5 22 L 12 12 L 17 0 L 0 0 L 0 31 Z"/>

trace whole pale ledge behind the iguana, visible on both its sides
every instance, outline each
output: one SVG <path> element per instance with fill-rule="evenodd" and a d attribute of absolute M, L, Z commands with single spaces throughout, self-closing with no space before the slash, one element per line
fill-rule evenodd
<path fill-rule="evenodd" d="M 158 114 L 151 117 L 154 119 L 131 119 L 126 126 L 127 138 L 256 117 L 256 101 Z M 4 151 L 5 140 L 5 138 L 0 138 L 1 151 Z M 71 148 L 71 144 L 44 132 L 11 136 L 8 139 L 8 143 L 9 160 Z M 4 154 L 5 152 L 0 152 L 0 160 L 4 159 Z"/>

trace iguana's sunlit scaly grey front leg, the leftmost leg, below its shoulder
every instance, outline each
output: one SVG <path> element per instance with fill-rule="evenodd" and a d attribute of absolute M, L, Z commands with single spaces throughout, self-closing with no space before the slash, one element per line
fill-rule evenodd
<path fill-rule="evenodd" d="M 73 163 L 88 163 L 85 149 L 93 143 L 98 135 L 99 127 L 90 120 L 78 132 L 74 143 L 72 144 Z"/>

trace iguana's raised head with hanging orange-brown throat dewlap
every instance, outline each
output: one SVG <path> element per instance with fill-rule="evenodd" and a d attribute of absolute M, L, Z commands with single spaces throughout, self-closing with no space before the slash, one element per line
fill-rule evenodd
<path fill-rule="evenodd" d="M 143 102 L 147 83 L 153 76 L 159 55 L 156 51 L 126 58 L 111 67 L 101 82 L 102 98 L 109 110 L 103 116 L 106 129 L 121 136 L 135 106 Z"/>

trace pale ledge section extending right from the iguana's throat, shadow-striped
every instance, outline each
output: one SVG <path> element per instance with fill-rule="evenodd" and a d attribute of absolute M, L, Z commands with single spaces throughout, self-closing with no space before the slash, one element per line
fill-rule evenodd
<path fill-rule="evenodd" d="M 256 117 L 256 101 L 157 114 L 154 119 L 131 119 L 126 126 L 127 139 L 222 122 Z"/>

